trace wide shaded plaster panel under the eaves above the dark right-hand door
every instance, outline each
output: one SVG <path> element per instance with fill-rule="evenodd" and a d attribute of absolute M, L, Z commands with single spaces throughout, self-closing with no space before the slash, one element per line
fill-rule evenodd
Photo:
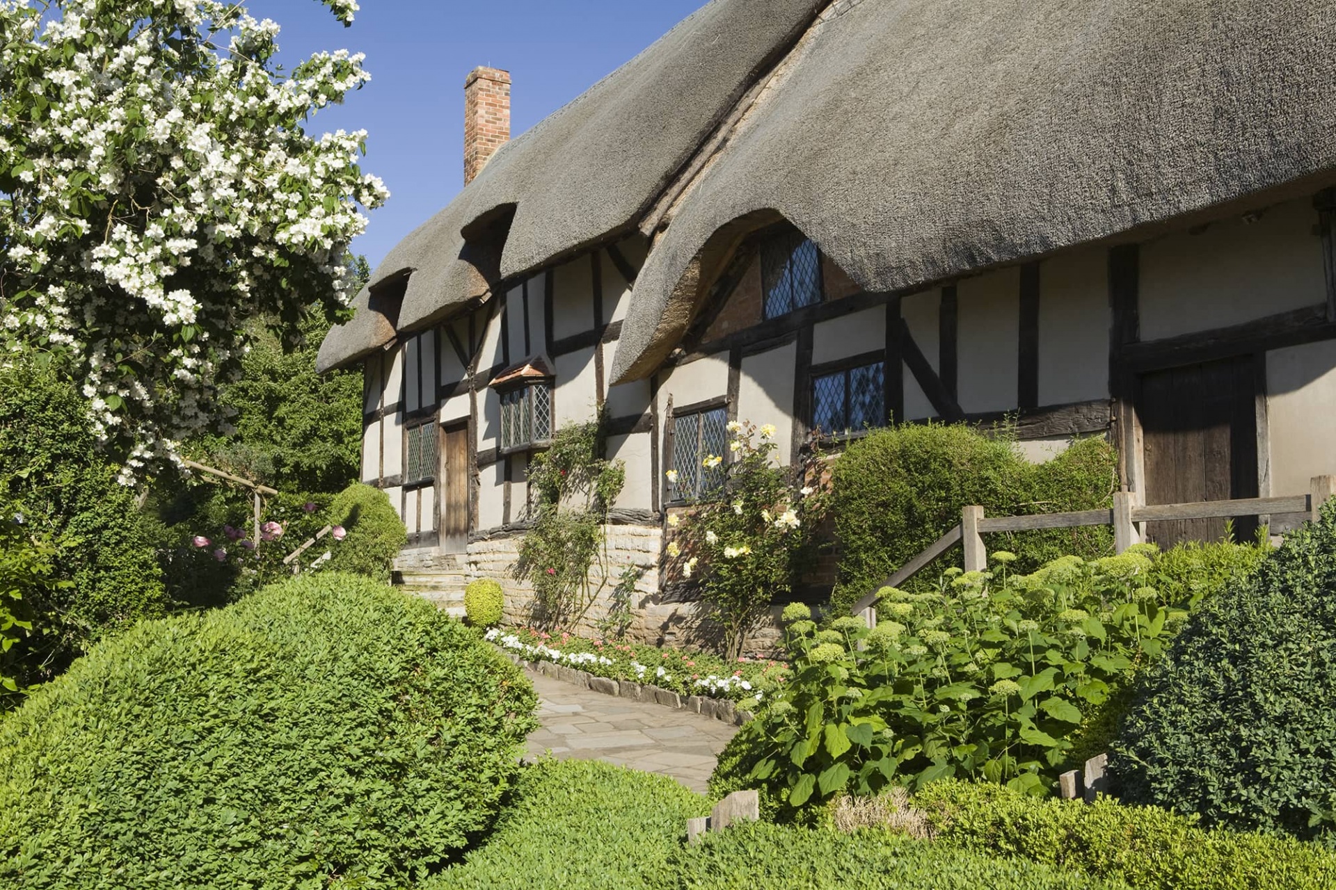
<path fill-rule="evenodd" d="M 1311 200 L 1238 216 L 1197 235 L 1141 246 L 1141 339 L 1242 324 L 1327 299 L 1321 239 Z"/>

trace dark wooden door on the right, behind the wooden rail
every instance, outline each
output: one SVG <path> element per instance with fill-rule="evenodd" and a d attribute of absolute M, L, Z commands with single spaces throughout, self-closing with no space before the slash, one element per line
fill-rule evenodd
<path fill-rule="evenodd" d="M 1257 496 L 1255 358 L 1204 362 L 1145 374 L 1137 394 L 1146 503 L 1193 503 Z M 1225 519 L 1146 523 L 1146 536 L 1168 547 L 1218 540 Z M 1255 516 L 1233 519 L 1234 538 L 1256 532 Z"/>

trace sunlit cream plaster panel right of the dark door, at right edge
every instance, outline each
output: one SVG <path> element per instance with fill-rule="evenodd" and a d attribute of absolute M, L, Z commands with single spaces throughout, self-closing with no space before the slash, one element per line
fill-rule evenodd
<path fill-rule="evenodd" d="M 1267 422 L 1273 496 L 1336 474 L 1336 340 L 1267 354 Z"/>

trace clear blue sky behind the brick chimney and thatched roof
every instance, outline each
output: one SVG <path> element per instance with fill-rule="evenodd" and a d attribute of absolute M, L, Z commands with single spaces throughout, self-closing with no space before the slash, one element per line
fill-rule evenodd
<path fill-rule="evenodd" d="M 366 129 L 363 169 L 390 200 L 353 243 L 374 267 L 464 185 L 464 77 L 477 65 L 510 72 L 517 136 L 657 40 L 704 0 L 361 0 L 343 28 L 318 0 L 250 0 L 273 19 L 279 63 L 346 48 L 366 53 L 371 83 L 311 131 Z"/>

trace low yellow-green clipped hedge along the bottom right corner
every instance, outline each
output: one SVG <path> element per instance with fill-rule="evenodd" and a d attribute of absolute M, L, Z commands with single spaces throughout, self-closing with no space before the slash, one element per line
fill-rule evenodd
<path fill-rule="evenodd" d="M 937 782 L 914 799 L 939 843 L 1116 878 L 1134 890 L 1325 890 L 1336 854 L 1194 817 L 1101 799 L 1037 799 L 997 785 Z"/>

